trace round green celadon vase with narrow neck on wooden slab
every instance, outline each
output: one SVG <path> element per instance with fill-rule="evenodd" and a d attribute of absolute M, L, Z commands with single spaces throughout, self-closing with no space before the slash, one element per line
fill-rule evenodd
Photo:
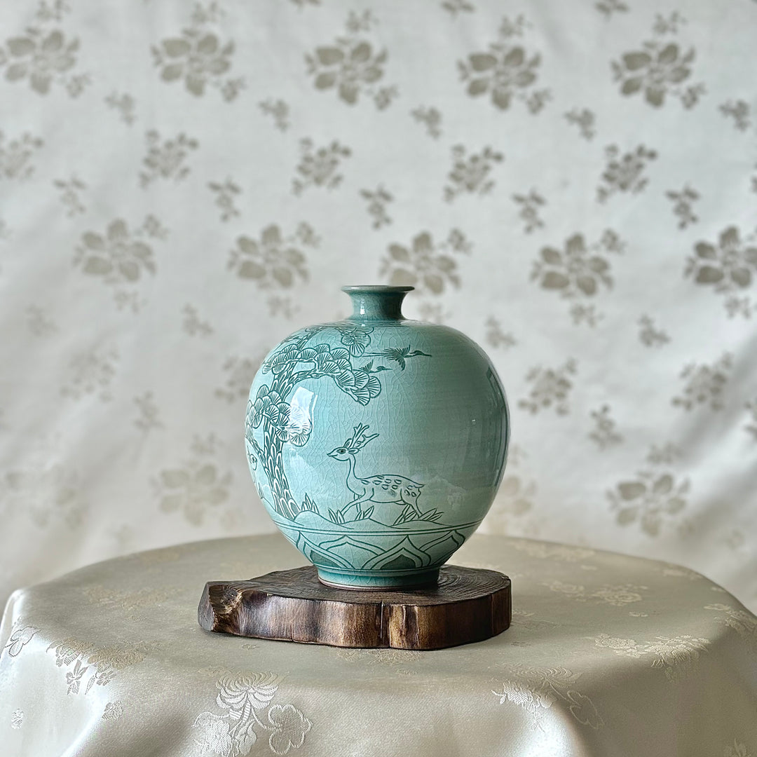
<path fill-rule="evenodd" d="M 435 584 L 502 478 L 509 412 L 484 350 L 405 319 L 408 286 L 349 286 L 354 312 L 268 354 L 245 419 L 257 493 L 335 587 Z"/>

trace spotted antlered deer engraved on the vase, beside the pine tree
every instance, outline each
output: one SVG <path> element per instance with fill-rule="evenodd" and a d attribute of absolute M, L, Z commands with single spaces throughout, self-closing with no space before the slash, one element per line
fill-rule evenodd
<path fill-rule="evenodd" d="M 406 520 L 411 513 L 419 518 L 423 515 L 418 507 L 418 498 L 421 495 L 423 484 L 419 484 L 410 478 L 394 473 L 378 473 L 377 475 L 360 478 L 355 473 L 355 455 L 357 455 L 369 441 L 375 439 L 378 434 L 366 436 L 367 425 L 354 426 L 354 434 L 344 442 L 343 447 L 335 447 L 329 452 L 329 457 L 350 463 L 347 472 L 347 489 L 354 494 L 354 499 L 347 505 L 343 515 L 350 508 L 357 507 L 358 517 L 362 515 L 360 505 L 364 502 L 372 502 L 381 505 L 403 505 L 403 511 L 395 521 Z"/>

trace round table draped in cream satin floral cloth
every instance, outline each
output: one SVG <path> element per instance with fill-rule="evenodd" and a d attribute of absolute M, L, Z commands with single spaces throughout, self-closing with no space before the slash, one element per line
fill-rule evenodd
<path fill-rule="evenodd" d="M 108 560 L 18 590 L 0 627 L 8 757 L 757 755 L 757 618 L 688 569 L 475 535 L 512 626 L 435 652 L 209 634 L 205 581 L 302 564 L 277 536 Z"/>

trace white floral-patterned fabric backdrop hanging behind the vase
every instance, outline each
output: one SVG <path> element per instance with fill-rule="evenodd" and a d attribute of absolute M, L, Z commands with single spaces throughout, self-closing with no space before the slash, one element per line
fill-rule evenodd
<path fill-rule="evenodd" d="M 757 609 L 755 33 L 755 0 L 3 2 L 0 600 L 272 531 L 251 378 L 393 282 L 507 388 L 484 531 Z"/>

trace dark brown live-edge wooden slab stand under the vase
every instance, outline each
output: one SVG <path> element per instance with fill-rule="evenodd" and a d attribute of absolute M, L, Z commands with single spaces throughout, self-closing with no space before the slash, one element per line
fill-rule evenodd
<path fill-rule="evenodd" d="M 500 634 L 510 625 L 510 579 L 447 565 L 435 587 L 348 590 L 325 586 L 312 565 L 250 581 L 205 584 L 206 631 L 366 649 L 441 650 Z"/>

